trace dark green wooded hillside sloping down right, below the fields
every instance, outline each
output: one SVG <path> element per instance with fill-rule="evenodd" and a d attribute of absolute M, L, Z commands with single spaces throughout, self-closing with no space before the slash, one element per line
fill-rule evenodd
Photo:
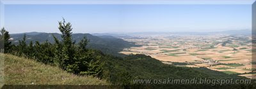
<path fill-rule="evenodd" d="M 163 64 L 159 60 L 147 55 L 128 55 L 125 58 L 111 58 L 105 60 L 105 71 L 108 72 L 112 83 L 120 83 L 120 79 L 166 79 L 166 78 L 209 78 L 209 79 L 246 79 L 235 74 L 225 74 L 212 71 L 205 67 L 176 67 Z M 125 81 L 127 83 L 129 81 Z"/>

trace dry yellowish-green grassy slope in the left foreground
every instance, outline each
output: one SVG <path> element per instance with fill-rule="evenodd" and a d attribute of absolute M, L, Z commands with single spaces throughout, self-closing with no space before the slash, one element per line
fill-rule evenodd
<path fill-rule="evenodd" d="M 92 76 L 76 76 L 58 67 L 30 59 L 0 54 L 4 59 L 4 82 L 7 85 L 108 85 Z"/>

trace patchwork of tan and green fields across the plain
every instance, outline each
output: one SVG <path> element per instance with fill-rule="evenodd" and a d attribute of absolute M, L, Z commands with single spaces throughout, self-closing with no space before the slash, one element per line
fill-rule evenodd
<path fill-rule="evenodd" d="M 132 36 L 133 37 L 133 36 Z M 140 44 L 120 53 L 150 55 L 165 64 L 207 67 L 227 74 L 252 74 L 252 38 L 242 35 L 134 36 L 122 38 Z"/>

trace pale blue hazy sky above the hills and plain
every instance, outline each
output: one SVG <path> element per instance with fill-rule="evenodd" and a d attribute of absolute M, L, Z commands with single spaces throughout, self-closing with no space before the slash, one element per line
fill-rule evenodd
<path fill-rule="evenodd" d="M 73 32 L 211 32 L 251 29 L 252 5 L 84 4 L 5 5 L 5 28 L 13 33 L 59 32 L 62 17 Z"/>

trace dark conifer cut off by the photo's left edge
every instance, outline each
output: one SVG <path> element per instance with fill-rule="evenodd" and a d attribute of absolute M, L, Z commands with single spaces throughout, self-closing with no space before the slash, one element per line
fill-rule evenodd
<path fill-rule="evenodd" d="M 9 53 L 12 49 L 12 42 L 9 41 L 9 39 L 10 34 L 3 27 L 3 29 L 1 29 L 1 49 L 4 48 L 4 53 Z"/>

